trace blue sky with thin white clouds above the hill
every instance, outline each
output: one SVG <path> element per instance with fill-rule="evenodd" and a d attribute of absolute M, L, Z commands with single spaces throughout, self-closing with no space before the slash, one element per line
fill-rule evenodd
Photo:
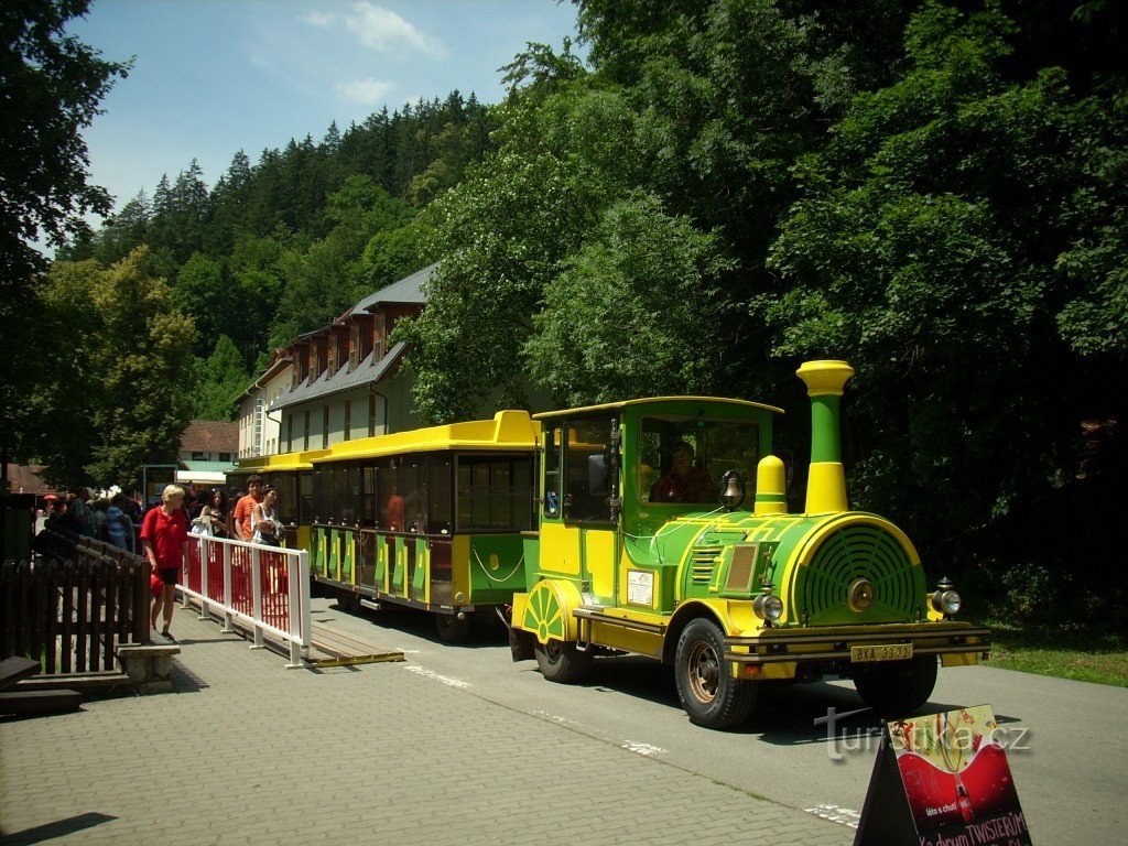
<path fill-rule="evenodd" d="M 497 103 L 497 69 L 527 42 L 575 37 L 554 0 L 94 0 L 68 32 L 107 60 L 135 56 L 83 138 L 118 208 L 193 158 L 209 186 L 239 149 L 257 161 L 387 105 L 453 89 Z"/>

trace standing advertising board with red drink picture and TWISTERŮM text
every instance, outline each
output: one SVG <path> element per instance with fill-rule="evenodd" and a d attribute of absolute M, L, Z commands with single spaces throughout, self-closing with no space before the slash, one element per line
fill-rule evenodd
<path fill-rule="evenodd" d="M 854 846 L 1030 846 L 990 705 L 885 723 Z"/>

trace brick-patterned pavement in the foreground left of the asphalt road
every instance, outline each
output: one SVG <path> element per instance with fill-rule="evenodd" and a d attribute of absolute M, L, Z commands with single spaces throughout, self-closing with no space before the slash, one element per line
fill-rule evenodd
<path fill-rule="evenodd" d="M 5 844 L 810 844 L 854 830 L 406 664 L 310 672 L 178 609 L 176 693 L 0 722 Z M 416 670 L 420 668 L 416 667 Z"/>

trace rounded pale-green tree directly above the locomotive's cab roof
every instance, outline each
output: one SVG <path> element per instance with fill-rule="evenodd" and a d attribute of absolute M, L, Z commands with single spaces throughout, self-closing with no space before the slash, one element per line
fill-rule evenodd
<path fill-rule="evenodd" d="M 570 405 L 723 393 L 734 302 L 716 238 L 652 196 L 611 205 L 545 293 L 529 371 Z"/>

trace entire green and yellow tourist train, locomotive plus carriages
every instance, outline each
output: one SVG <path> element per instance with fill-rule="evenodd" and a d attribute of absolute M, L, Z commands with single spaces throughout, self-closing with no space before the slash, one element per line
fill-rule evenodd
<path fill-rule="evenodd" d="M 851 511 L 840 397 L 852 368 L 804 363 L 807 501 L 788 513 L 779 408 L 652 397 L 364 438 L 245 459 L 280 491 L 290 543 L 346 606 L 434 615 L 443 641 L 499 611 L 514 660 L 552 681 L 600 655 L 675 668 L 693 722 L 744 720 L 769 682 L 853 679 L 884 715 L 927 702 L 937 667 L 989 632 L 955 619 L 913 541 Z M 239 482 L 232 479 L 233 485 Z"/>

